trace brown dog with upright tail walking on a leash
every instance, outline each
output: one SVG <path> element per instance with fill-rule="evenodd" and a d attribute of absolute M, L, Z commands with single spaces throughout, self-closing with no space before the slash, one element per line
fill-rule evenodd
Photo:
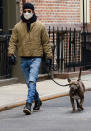
<path fill-rule="evenodd" d="M 73 111 L 75 111 L 74 101 L 76 101 L 77 103 L 78 111 L 81 111 L 84 109 L 82 104 L 84 102 L 84 92 L 85 92 L 85 86 L 83 82 L 81 81 L 81 69 L 80 69 L 78 80 L 71 81 L 70 79 L 68 79 L 68 82 L 70 84 L 69 96 L 70 96 L 70 101 L 72 104 Z"/>

